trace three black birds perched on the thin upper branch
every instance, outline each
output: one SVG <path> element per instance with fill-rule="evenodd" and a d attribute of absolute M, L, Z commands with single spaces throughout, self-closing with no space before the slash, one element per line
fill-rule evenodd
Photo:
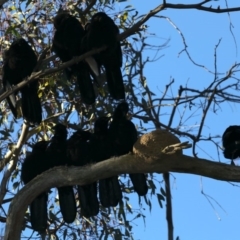
<path fill-rule="evenodd" d="M 119 29 L 114 21 L 104 12 L 98 12 L 86 24 L 85 28 L 74 16 L 62 12 L 54 18 L 55 34 L 52 51 L 67 62 L 81 54 L 100 47 L 104 51 L 86 58 L 65 69 L 67 78 L 77 79 L 82 102 L 93 104 L 95 91 L 92 79 L 97 83 L 101 67 L 105 68 L 106 81 L 113 99 L 125 99 L 121 73 L 122 50 L 117 39 Z M 37 65 L 37 56 L 31 46 L 23 39 L 15 40 L 6 51 L 3 65 L 3 89 L 5 91 L 29 77 Z M 34 81 L 20 89 L 22 115 L 32 124 L 42 121 L 41 102 L 38 97 L 38 82 Z M 15 118 L 18 116 L 16 94 L 7 98 Z"/>

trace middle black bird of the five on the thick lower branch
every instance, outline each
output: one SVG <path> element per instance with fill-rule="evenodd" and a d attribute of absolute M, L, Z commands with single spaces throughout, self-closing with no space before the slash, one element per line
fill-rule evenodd
<path fill-rule="evenodd" d="M 91 133 L 77 130 L 68 139 L 68 154 L 71 162 L 75 166 L 84 166 L 91 163 L 89 140 Z M 97 183 L 84 186 L 77 186 L 78 197 L 81 206 L 81 213 L 85 217 L 92 217 L 99 213 L 99 203 L 97 198 Z"/>

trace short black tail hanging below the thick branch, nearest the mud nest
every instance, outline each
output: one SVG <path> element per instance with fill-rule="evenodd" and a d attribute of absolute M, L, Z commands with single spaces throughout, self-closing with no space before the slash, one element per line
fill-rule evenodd
<path fill-rule="evenodd" d="M 134 191 L 137 192 L 139 196 L 146 195 L 148 192 L 148 186 L 147 186 L 145 174 L 134 173 L 134 174 L 129 174 L 129 176 L 132 181 Z"/>

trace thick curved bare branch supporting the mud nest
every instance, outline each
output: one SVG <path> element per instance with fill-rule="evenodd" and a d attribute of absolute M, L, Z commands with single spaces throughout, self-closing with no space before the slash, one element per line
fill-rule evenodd
<path fill-rule="evenodd" d="M 21 224 L 19 224 L 19 220 L 23 219 L 27 206 L 41 192 L 52 187 L 84 185 L 117 174 L 140 172 L 180 172 L 222 181 L 240 182 L 240 167 L 237 166 L 181 154 L 160 154 L 159 156 L 144 159 L 129 154 L 85 167 L 50 169 L 33 179 L 14 197 L 8 212 L 4 239 L 20 239 Z"/>

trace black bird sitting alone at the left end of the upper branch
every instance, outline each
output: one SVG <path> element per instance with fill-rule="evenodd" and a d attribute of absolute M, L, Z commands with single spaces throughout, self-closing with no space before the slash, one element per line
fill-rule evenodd
<path fill-rule="evenodd" d="M 30 45 L 23 38 L 15 40 L 4 56 L 2 80 L 5 91 L 30 76 L 36 64 L 37 56 Z M 20 89 L 23 117 L 33 124 L 39 124 L 42 121 L 42 108 L 37 91 L 37 81 L 31 82 Z M 9 107 L 15 118 L 17 118 L 16 94 L 7 97 Z"/>

